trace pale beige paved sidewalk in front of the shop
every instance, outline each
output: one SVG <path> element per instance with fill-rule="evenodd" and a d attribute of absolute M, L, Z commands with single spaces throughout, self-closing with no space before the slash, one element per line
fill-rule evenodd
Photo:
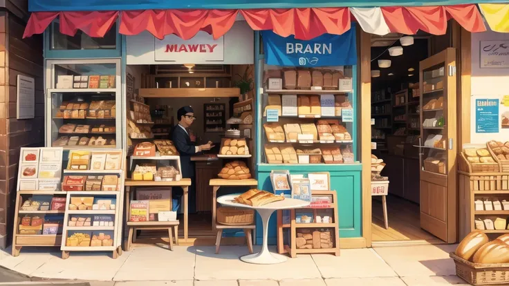
<path fill-rule="evenodd" d="M 214 247 L 174 247 L 169 251 L 165 245 L 141 246 L 117 259 L 104 253 L 71 252 L 66 260 L 60 258 L 59 251 L 26 247 L 18 257 L 0 252 L 0 266 L 26 279 L 10 283 L 0 271 L 0 286 L 468 285 L 455 275 L 454 262 L 449 258 L 455 248 L 420 245 L 342 249 L 341 256 L 299 255 L 278 265 L 252 265 L 239 260 L 239 256 L 248 254 L 247 247 L 239 246 L 221 247 L 217 255 Z"/>

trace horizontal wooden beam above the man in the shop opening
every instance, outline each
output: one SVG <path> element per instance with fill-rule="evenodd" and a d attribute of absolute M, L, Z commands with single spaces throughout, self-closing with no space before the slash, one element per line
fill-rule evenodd
<path fill-rule="evenodd" d="M 165 97 L 238 97 L 239 88 L 140 88 L 145 98 Z"/>

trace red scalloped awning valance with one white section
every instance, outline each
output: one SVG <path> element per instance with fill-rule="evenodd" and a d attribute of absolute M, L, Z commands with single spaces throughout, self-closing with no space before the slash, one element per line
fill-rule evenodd
<path fill-rule="evenodd" d="M 30 15 L 24 37 L 41 34 L 57 17 L 60 19 L 60 32 L 64 35 L 73 36 L 79 29 L 91 37 L 104 37 L 120 16 L 119 32 L 123 35 L 137 35 L 147 30 L 158 39 L 171 34 L 191 39 L 203 30 L 217 39 L 232 28 L 239 12 L 253 30 L 272 30 L 283 37 L 295 35 L 297 39 L 313 39 L 324 33 L 341 35 L 350 29 L 351 21 L 358 21 L 363 30 L 378 35 L 388 32 L 412 35 L 418 30 L 443 35 L 449 19 L 455 19 L 470 32 L 486 30 L 476 5 L 465 4 L 382 8 L 34 12 Z"/>

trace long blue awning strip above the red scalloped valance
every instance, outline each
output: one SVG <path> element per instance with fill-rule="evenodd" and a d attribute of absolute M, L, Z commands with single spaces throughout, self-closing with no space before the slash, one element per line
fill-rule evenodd
<path fill-rule="evenodd" d="M 482 3 L 504 3 L 485 0 Z M 408 0 L 28 0 L 30 12 L 105 11 L 148 9 L 256 9 L 256 8 L 326 8 L 381 6 L 445 6 L 472 4 L 479 1 L 408 1 Z"/>

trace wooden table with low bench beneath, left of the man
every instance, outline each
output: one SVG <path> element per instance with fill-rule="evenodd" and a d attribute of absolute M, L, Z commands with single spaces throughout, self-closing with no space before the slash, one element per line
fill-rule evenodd
<path fill-rule="evenodd" d="M 189 220 L 189 213 L 188 213 L 188 189 L 191 185 L 191 179 L 189 178 L 183 178 L 178 181 L 139 181 L 139 180 L 131 180 L 127 179 L 124 183 L 126 187 L 126 193 L 127 193 L 127 200 L 126 200 L 126 221 L 127 226 L 129 226 L 129 240 L 126 243 L 126 251 L 129 250 L 132 244 L 132 232 L 136 231 L 136 229 L 168 229 L 169 232 L 169 243 L 170 243 L 170 249 L 173 248 L 172 246 L 172 227 L 174 227 L 174 236 L 176 245 L 178 245 L 178 221 L 175 222 L 129 222 L 129 216 L 131 215 L 131 200 L 133 199 L 134 192 L 131 192 L 131 187 L 182 187 L 184 190 L 184 242 L 187 242 L 187 236 L 188 236 L 188 220 Z M 171 191 L 170 191 L 171 192 Z"/>

